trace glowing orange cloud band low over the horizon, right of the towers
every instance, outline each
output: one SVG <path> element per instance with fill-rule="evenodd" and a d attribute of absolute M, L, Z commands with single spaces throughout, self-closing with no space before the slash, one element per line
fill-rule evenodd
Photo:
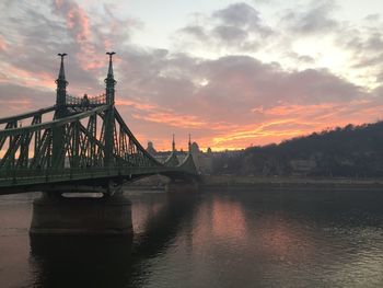
<path fill-rule="evenodd" d="M 193 134 L 193 140 L 206 150 L 243 149 L 252 145 L 268 145 L 280 142 L 293 137 L 310 135 L 335 126 L 349 123 L 358 125 L 374 122 L 383 111 L 383 104 L 375 99 L 361 99 L 349 103 L 322 104 L 278 104 L 269 108 L 258 107 L 253 113 L 260 114 L 256 118 L 239 117 L 222 122 L 222 116 L 212 115 L 209 107 L 204 107 L 204 115 L 178 113 L 156 104 L 140 102 L 139 100 L 117 100 L 117 106 L 128 106 L 132 110 L 130 117 L 143 119 L 153 125 L 148 130 L 141 130 L 140 139 L 153 140 L 159 150 L 170 149 L 170 139 L 161 138 L 160 130 L 169 131 L 172 126 L 187 129 Z M 213 107 L 212 107 L 213 108 Z M 197 111 L 198 113 L 198 111 Z M 252 114 L 248 114 L 252 115 Z M 144 125 L 142 126 L 144 127 Z M 154 131 L 151 131 L 155 127 Z M 132 127 L 134 129 L 137 129 Z M 142 129 L 142 128 L 140 128 Z M 185 137 L 187 137 L 185 133 Z M 177 147 L 187 149 L 187 142 L 181 139 Z"/>

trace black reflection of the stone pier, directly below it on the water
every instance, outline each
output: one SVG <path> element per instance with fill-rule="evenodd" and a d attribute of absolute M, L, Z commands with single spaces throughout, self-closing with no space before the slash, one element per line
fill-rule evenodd
<path fill-rule="evenodd" d="M 131 275 L 131 238 L 33 237 L 34 286 L 123 287 Z"/>

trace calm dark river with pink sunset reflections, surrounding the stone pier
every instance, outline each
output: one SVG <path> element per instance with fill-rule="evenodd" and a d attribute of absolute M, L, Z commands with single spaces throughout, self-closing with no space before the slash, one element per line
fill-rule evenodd
<path fill-rule="evenodd" d="M 0 196 L 0 287 L 383 287 L 383 193 L 129 192 L 135 237 L 30 239 Z"/>

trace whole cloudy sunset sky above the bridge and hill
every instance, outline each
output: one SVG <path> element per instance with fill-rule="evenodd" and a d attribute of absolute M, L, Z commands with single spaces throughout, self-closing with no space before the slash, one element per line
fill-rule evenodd
<path fill-rule="evenodd" d="M 0 0 L 0 117 L 104 92 L 146 146 L 243 149 L 383 111 L 381 0 Z"/>

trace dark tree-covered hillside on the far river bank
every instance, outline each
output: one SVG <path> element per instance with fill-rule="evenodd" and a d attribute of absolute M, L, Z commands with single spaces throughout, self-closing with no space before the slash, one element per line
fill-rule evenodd
<path fill-rule="evenodd" d="M 279 145 L 216 155 L 216 174 L 383 176 L 383 122 L 313 133 Z"/>

